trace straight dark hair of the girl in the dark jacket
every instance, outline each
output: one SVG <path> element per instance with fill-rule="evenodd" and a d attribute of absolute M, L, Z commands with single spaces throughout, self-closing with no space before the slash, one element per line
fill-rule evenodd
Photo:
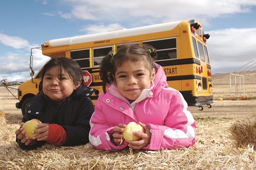
<path fill-rule="evenodd" d="M 79 80 L 81 80 L 82 83 L 84 82 L 83 72 L 76 61 L 66 57 L 55 57 L 47 61 L 46 64 L 44 65 L 42 69 L 41 83 L 43 83 L 45 73 L 53 67 L 58 67 L 60 71 L 60 76 L 62 76 L 63 71 L 67 72 L 68 76 L 75 84 Z"/>

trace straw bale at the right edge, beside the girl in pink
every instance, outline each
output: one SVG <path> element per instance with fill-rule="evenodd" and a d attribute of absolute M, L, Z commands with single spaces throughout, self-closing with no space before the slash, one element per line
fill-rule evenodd
<path fill-rule="evenodd" d="M 253 147 L 256 150 L 256 115 L 237 120 L 229 129 L 236 147 Z"/>

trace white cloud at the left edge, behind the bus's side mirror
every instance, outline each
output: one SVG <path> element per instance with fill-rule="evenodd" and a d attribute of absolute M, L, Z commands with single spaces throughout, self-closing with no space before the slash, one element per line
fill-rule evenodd
<path fill-rule="evenodd" d="M 7 78 L 9 82 L 27 80 L 27 77 L 29 77 L 31 48 L 38 47 L 39 45 L 29 44 L 23 38 L 11 37 L 5 34 L 0 34 L 0 43 L 19 49 L 15 52 L 2 53 L 2 56 L 0 56 L 0 78 Z M 34 56 L 33 69 L 36 71 L 49 59 L 49 57 L 42 54 L 40 49 L 32 49 L 32 55 Z"/>

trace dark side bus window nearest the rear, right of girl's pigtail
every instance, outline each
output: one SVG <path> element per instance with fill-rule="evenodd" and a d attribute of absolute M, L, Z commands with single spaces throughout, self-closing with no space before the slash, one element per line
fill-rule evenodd
<path fill-rule="evenodd" d="M 143 41 L 143 44 L 152 45 L 157 49 L 157 57 L 154 60 L 177 59 L 176 38 L 164 40 Z"/>

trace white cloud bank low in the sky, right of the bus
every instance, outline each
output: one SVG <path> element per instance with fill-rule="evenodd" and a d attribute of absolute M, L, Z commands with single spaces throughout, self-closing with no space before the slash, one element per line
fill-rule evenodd
<path fill-rule="evenodd" d="M 256 59 L 256 28 L 229 28 L 207 32 L 212 72 L 230 72 Z"/>

